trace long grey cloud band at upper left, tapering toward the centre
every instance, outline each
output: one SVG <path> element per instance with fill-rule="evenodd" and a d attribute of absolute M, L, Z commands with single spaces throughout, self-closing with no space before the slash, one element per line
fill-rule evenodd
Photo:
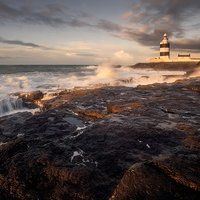
<path fill-rule="evenodd" d="M 71 26 L 89 27 L 107 32 L 119 32 L 122 27 L 106 19 L 98 19 L 83 11 L 73 11 L 62 4 L 54 3 L 34 8 L 0 2 L 0 22 L 20 22 L 27 24 L 42 24 L 52 27 Z"/>

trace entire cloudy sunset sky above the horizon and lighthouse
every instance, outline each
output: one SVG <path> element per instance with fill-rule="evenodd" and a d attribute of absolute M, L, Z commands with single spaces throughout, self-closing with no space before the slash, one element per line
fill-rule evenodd
<path fill-rule="evenodd" d="M 134 64 L 200 57 L 199 0 L 0 0 L 0 64 Z"/>

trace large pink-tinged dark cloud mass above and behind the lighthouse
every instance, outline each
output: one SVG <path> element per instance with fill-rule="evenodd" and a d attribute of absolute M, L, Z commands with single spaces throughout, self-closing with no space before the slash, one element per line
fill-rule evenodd
<path fill-rule="evenodd" d="M 158 38 L 167 32 L 170 37 L 179 38 L 173 42 L 175 48 L 197 49 L 200 38 L 185 40 L 183 37 L 191 31 L 185 23 L 199 14 L 199 9 L 198 0 L 139 0 L 124 14 L 124 18 L 137 29 L 124 28 L 117 36 L 145 46 L 156 46 Z"/>

